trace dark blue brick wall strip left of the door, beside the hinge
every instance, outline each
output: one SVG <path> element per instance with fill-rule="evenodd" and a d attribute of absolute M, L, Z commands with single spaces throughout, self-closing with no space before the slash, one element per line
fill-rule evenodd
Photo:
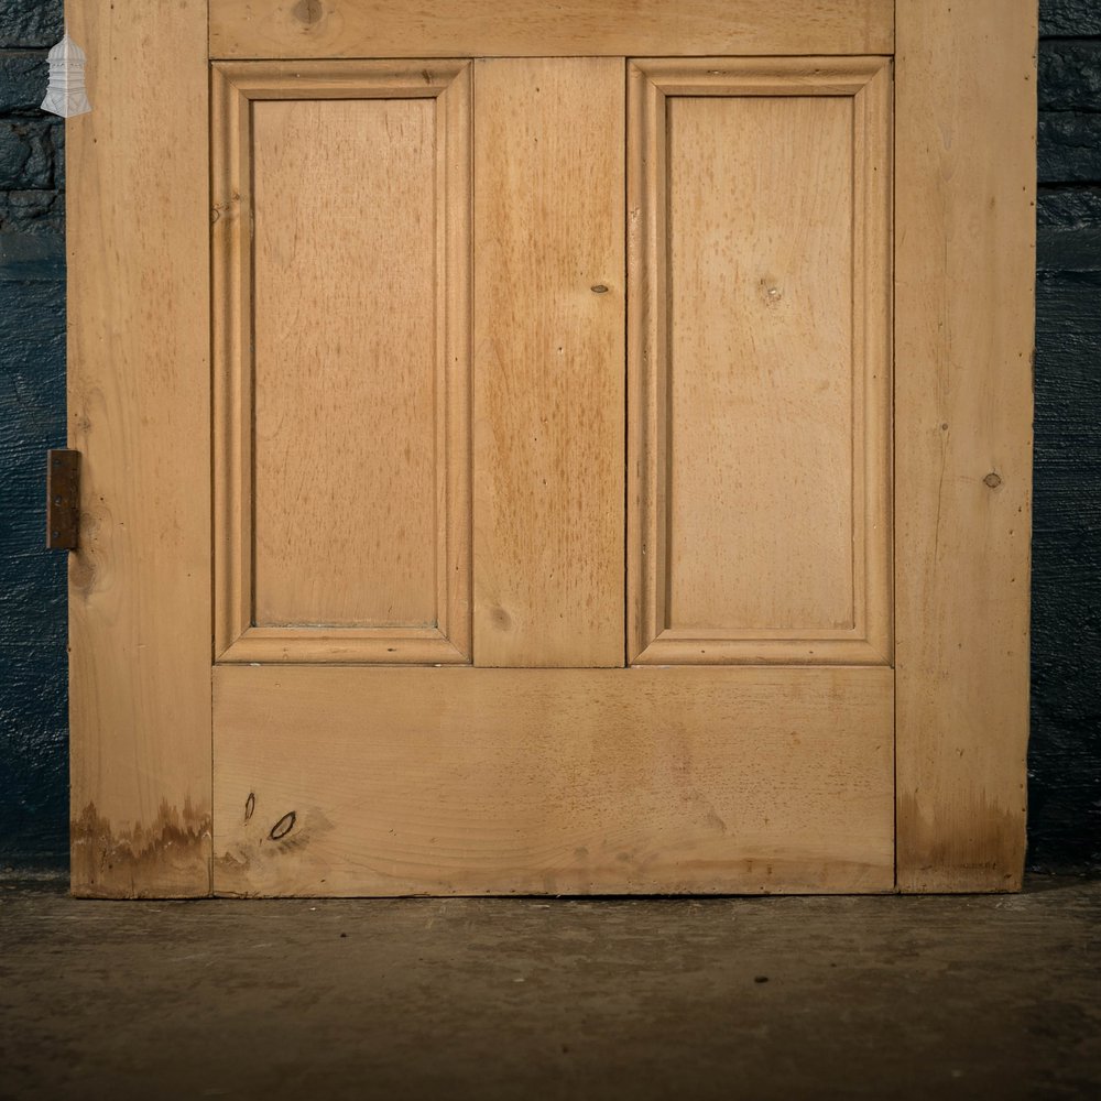
<path fill-rule="evenodd" d="M 0 0 L 0 868 L 68 851 L 65 555 L 43 456 L 65 443 L 64 126 L 39 110 L 59 0 Z"/>

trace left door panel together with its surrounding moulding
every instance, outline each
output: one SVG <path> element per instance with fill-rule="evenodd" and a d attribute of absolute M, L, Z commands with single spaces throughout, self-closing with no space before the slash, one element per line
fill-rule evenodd
<path fill-rule="evenodd" d="M 468 661 L 468 66 L 214 88 L 219 658 Z"/>

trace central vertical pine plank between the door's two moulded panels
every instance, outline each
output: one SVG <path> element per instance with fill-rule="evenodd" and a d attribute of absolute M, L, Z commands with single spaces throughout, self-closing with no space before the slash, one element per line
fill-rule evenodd
<path fill-rule="evenodd" d="M 623 62 L 475 101 L 475 664 L 622 665 Z"/>

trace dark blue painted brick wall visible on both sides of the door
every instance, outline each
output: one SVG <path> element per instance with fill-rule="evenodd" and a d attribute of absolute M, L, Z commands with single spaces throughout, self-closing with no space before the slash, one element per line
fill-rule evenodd
<path fill-rule="evenodd" d="M 992 29 L 996 31 L 996 29 Z M 68 853 L 61 0 L 0 0 L 0 868 Z M 95 105 L 92 105 L 95 107 Z M 171 122 L 168 123 L 171 124 Z M 1101 0 L 1042 0 L 1028 865 L 1101 871 Z"/>

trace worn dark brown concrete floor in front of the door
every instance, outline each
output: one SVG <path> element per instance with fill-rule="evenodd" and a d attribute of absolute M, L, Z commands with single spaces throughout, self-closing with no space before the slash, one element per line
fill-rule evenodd
<path fill-rule="evenodd" d="M 0 883 L 0 1098 L 1101 1098 L 1101 882 L 96 903 Z"/>

